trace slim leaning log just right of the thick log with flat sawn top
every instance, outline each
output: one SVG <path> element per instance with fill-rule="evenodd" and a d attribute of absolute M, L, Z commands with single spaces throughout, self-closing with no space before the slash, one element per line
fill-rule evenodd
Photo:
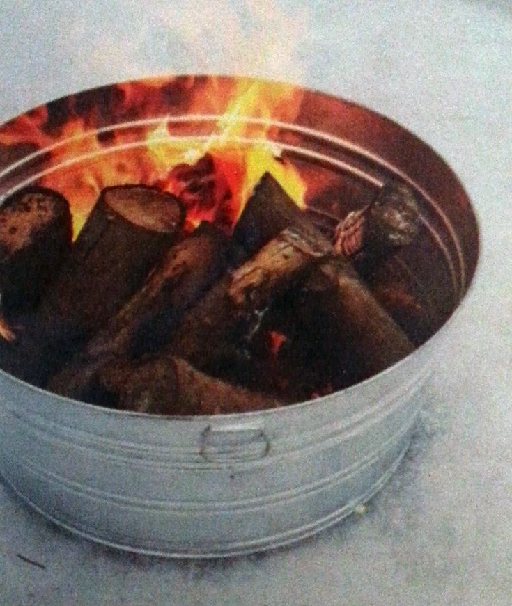
<path fill-rule="evenodd" d="M 56 393 L 94 399 L 95 373 L 114 358 L 137 358 L 160 349 L 187 308 L 226 269 L 228 239 L 203 222 L 168 250 L 143 287 L 49 382 Z"/>

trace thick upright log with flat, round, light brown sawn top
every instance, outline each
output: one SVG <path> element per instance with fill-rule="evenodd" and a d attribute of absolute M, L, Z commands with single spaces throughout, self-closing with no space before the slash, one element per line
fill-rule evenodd
<path fill-rule="evenodd" d="M 2 347 L 3 369 L 45 385 L 141 286 L 183 218 L 177 198 L 157 189 L 104 189 L 39 308 Z"/>

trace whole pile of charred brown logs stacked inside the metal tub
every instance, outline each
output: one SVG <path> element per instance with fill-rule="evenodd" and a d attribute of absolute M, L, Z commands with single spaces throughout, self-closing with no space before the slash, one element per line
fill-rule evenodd
<path fill-rule="evenodd" d="M 183 200 L 104 189 L 75 243 L 68 202 L 0 207 L 0 367 L 143 413 L 241 413 L 362 381 L 414 344 L 367 282 L 410 244 L 417 205 L 386 184 L 327 237 L 265 173 L 233 234 L 183 229 Z"/>

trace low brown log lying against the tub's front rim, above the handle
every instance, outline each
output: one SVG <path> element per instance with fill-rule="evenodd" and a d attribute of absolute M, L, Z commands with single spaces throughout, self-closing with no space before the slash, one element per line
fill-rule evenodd
<path fill-rule="evenodd" d="M 277 408 L 282 402 L 224 383 L 185 360 L 160 356 L 137 365 L 114 360 L 98 374 L 123 410 L 164 415 L 217 415 Z"/>

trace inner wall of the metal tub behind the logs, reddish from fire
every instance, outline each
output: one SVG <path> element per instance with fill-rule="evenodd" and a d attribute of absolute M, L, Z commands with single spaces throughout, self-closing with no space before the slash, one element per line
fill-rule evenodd
<path fill-rule="evenodd" d="M 268 91 L 288 95 L 288 105 L 277 116 L 233 114 L 236 129 L 226 136 L 226 90 L 255 86 L 262 98 Z M 458 307 L 474 276 L 479 234 L 456 175 L 430 147 L 387 118 L 290 85 L 177 77 L 58 99 L 0 127 L 0 200 L 26 185 L 54 186 L 68 194 L 78 230 L 100 186 L 135 179 L 158 184 L 162 166 L 148 170 L 148 154 L 166 154 L 171 161 L 172 150 L 176 158 L 187 157 L 187 150 L 219 137 L 226 149 L 236 147 L 242 154 L 258 145 L 272 147 L 276 166 L 293 167 L 306 184 L 307 212 L 327 234 L 388 180 L 406 182 L 419 202 L 419 234 L 375 269 L 369 285 L 377 285 L 375 296 L 418 346 Z"/>

